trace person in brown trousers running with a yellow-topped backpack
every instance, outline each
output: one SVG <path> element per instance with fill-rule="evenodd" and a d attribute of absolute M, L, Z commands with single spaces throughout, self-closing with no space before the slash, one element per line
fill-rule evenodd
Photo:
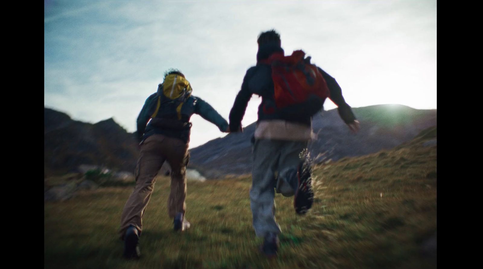
<path fill-rule="evenodd" d="M 168 71 L 165 73 L 165 81 L 168 76 L 181 76 L 177 78 L 186 82 L 191 94 L 191 85 L 185 80 L 183 73 L 179 70 Z M 174 86 L 172 88 L 174 89 Z M 142 215 L 154 190 L 156 175 L 164 161 L 168 161 L 171 167 L 168 214 L 173 219 L 174 230 L 183 231 L 190 226 L 185 218 L 185 173 L 189 161 L 191 116 L 199 114 L 203 119 L 215 124 L 220 131 L 229 130 L 228 122 L 199 97 L 188 94 L 189 96 L 181 99 L 182 101 L 179 101 L 180 99 L 172 101 L 163 98 L 161 94 L 163 94 L 163 84 L 159 84 L 158 91 L 146 99 L 137 120 L 137 136 L 141 153 L 135 170 L 136 187 L 124 206 L 119 230 L 119 235 L 125 242 L 126 258 L 137 258 L 140 255 L 138 242 L 142 232 Z"/>

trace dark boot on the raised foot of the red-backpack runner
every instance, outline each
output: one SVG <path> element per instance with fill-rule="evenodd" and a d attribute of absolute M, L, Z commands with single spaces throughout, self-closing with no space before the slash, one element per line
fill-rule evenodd
<path fill-rule="evenodd" d="M 295 191 L 294 207 L 298 215 L 304 215 L 312 207 L 312 167 L 302 161 L 297 167 L 298 187 Z"/>

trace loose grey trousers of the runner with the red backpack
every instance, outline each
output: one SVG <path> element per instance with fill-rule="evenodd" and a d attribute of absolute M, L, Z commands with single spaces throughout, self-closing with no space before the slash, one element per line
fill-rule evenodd
<path fill-rule="evenodd" d="M 307 145 L 308 141 L 255 140 L 250 205 L 256 236 L 281 232 L 275 221 L 275 191 L 285 197 L 295 194 L 299 154 Z"/>

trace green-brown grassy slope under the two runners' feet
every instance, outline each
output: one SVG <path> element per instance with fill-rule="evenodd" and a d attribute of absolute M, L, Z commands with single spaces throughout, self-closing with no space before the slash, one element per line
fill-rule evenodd
<path fill-rule="evenodd" d="M 142 258 L 121 258 L 117 229 L 132 187 L 80 192 L 44 204 L 45 268 L 436 268 L 423 253 L 437 232 L 436 137 L 430 129 L 406 145 L 316 166 L 315 202 L 298 216 L 277 194 L 282 229 L 277 258 L 257 252 L 250 177 L 188 182 L 191 229 L 172 232 L 169 179 L 157 178 L 143 218 Z"/>

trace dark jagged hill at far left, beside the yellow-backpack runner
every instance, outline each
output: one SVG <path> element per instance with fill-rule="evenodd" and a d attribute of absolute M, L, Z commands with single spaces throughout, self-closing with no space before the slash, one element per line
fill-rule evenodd
<path fill-rule="evenodd" d="M 45 175 L 72 172 L 81 164 L 134 171 L 136 139 L 112 118 L 91 124 L 44 108 Z"/>

